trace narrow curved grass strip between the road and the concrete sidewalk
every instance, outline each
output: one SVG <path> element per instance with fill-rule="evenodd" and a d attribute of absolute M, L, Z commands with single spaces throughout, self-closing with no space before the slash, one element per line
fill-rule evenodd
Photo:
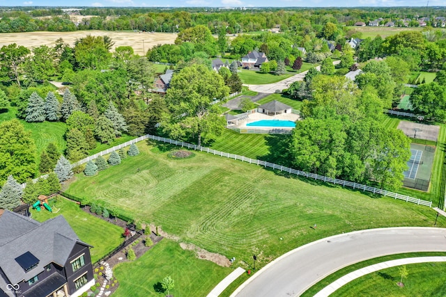
<path fill-rule="evenodd" d="M 348 273 L 356 271 L 357 269 L 364 268 L 364 267 L 367 267 L 367 266 L 370 266 L 373 264 L 377 264 L 380 262 L 386 262 L 386 261 L 390 261 L 390 260 L 394 260 L 394 259 L 403 259 L 403 258 L 410 258 L 410 257 L 445 256 L 445 255 L 446 255 L 445 252 L 408 252 L 408 253 L 404 253 L 404 254 L 388 255 L 388 256 L 384 256 L 384 257 L 377 257 L 374 259 L 362 261 L 362 262 L 347 266 L 345 268 L 342 268 L 339 271 L 336 271 L 335 273 L 328 275 L 326 278 L 324 278 L 317 284 L 314 284 L 313 287 L 311 287 L 307 291 L 305 291 L 305 293 L 302 294 L 302 297 L 314 296 L 318 291 L 321 291 L 321 289 L 325 288 L 326 286 L 328 286 L 329 284 L 331 284 L 338 278 L 341 278 L 342 276 L 344 276 Z M 409 275 L 412 275 L 412 273 L 410 273 L 410 271 L 409 271 Z M 367 278 L 368 278 L 368 276 L 364 276 L 364 279 L 367 279 Z M 410 278 L 410 276 L 409 276 L 409 278 Z M 363 278 L 360 278 L 360 279 L 363 279 Z M 427 279 L 423 279 L 423 280 L 424 280 L 424 282 L 428 281 Z M 339 290 L 339 292 L 340 291 L 341 290 Z M 351 290 L 348 290 L 348 291 L 351 291 Z M 375 291 L 375 293 L 376 293 L 376 291 Z M 371 295 L 374 295 L 374 294 L 371 294 Z M 371 296 L 371 295 L 369 295 L 369 296 Z M 330 296 L 332 296 L 332 295 L 330 295 Z M 366 296 L 366 295 L 362 295 L 362 296 Z M 392 295 L 387 295 L 387 296 L 392 296 Z"/>

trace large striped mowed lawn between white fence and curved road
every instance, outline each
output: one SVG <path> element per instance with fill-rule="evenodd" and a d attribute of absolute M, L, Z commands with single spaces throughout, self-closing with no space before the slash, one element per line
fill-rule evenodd
<path fill-rule="evenodd" d="M 259 267 L 305 243 L 341 232 L 388 226 L 431 226 L 428 207 L 370 198 L 360 191 L 279 175 L 241 161 L 168 152 L 139 143 L 139 156 L 95 177 L 77 175 L 67 192 L 118 207 L 237 264 L 254 252 Z M 137 170 L 139 168 L 139 170 Z M 310 228 L 317 223 L 318 229 Z M 446 226 L 446 218 L 438 225 Z"/>

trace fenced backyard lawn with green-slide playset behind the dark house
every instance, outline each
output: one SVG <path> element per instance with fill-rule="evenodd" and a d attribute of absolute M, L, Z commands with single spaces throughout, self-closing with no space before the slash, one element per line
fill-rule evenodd
<path fill-rule="evenodd" d="M 93 246 L 90 249 L 91 262 L 98 261 L 123 242 L 121 227 L 82 211 L 75 202 L 58 197 L 49 200 L 48 204 L 51 207 L 56 206 L 60 210 L 56 214 L 46 209 L 31 210 L 33 219 L 43 222 L 49 218 L 62 215 L 75 230 L 79 239 Z"/>

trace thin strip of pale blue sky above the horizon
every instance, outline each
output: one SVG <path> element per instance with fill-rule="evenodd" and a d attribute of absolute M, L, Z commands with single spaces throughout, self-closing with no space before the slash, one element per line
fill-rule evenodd
<path fill-rule="evenodd" d="M 0 6 L 135 6 L 135 7 L 357 7 L 426 6 L 427 0 L 0 0 Z M 429 0 L 429 6 L 446 6 L 445 0 Z"/>

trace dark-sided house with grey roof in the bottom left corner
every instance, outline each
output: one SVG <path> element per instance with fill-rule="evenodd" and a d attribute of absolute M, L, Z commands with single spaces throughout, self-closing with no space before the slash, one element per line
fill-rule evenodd
<path fill-rule="evenodd" d="M 39 223 L 3 211 L 0 296 L 80 296 L 95 284 L 90 248 L 63 216 Z"/>

